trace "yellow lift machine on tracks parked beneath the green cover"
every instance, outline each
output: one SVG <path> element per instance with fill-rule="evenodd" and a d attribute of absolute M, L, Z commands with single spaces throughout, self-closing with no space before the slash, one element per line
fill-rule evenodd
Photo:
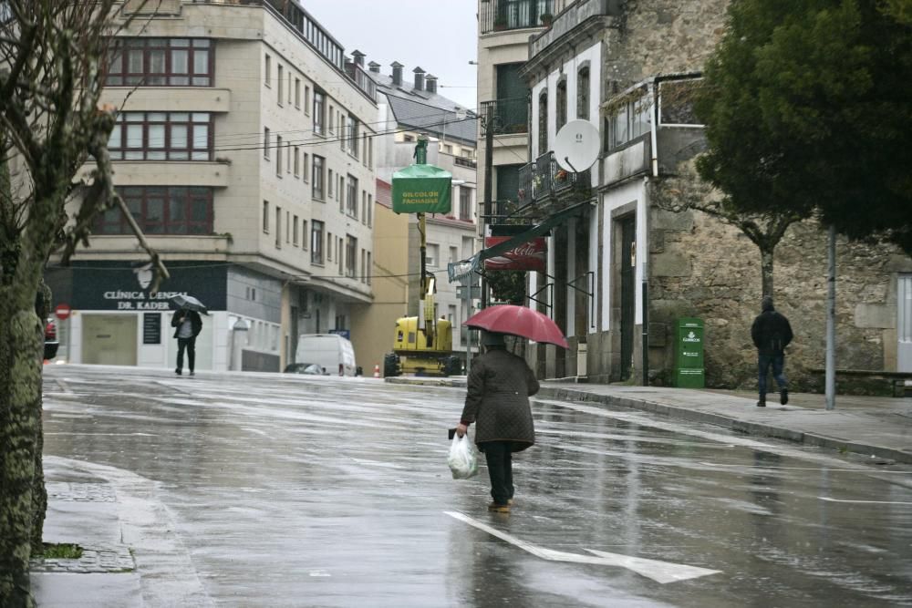
<path fill-rule="evenodd" d="M 434 318 L 435 279 L 430 276 L 420 314 L 396 320 L 393 352 L 383 357 L 383 376 L 453 376 L 461 373 L 462 362 L 453 355 L 452 324 Z"/>

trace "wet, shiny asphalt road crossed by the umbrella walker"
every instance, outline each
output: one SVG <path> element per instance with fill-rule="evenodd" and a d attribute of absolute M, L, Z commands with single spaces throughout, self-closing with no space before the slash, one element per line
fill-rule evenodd
<path fill-rule="evenodd" d="M 216 605 L 912 605 L 907 467 L 543 399 L 503 515 L 446 466 L 464 389 L 48 366 L 45 390 L 46 454 L 153 480 Z"/>

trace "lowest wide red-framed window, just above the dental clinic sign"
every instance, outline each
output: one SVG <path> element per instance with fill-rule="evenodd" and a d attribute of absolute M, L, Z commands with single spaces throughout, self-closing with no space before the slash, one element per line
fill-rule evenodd
<path fill-rule="evenodd" d="M 212 234 L 212 188 L 128 186 L 117 191 L 146 234 Z M 133 231 L 115 207 L 98 216 L 95 233 Z"/>

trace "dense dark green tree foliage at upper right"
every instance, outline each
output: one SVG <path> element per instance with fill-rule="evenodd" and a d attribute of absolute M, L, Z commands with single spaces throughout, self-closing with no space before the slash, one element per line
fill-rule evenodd
<path fill-rule="evenodd" d="M 696 109 L 739 213 L 819 216 L 912 253 L 908 0 L 738 0 Z"/>

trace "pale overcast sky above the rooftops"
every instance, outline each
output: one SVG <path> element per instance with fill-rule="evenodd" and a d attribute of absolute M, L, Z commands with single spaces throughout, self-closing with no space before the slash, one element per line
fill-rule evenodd
<path fill-rule="evenodd" d="M 438 93 L 463 108 L 477 107 L 475 0 L 300 0 L 307 12 L 345 46 L 376 61 L 389 76 L 389 64 L 402 64 L 402 78 L 423 67 L 438 77 Z"/>

